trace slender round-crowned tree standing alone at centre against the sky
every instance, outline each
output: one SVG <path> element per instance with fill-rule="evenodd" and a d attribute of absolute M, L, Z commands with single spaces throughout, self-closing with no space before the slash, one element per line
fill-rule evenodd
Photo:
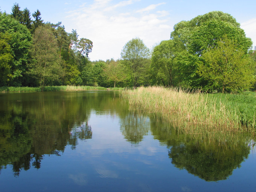
<path fill-rule="evenodd" d="M 149 59 L 149 49 L 140 38 L 133 38 L 128 41 L 122 49 L 121 57 L 123 63 L 130 70 L 131 84 L 134 87 L 142 84 L 143 70 L 146 60 Z"/>

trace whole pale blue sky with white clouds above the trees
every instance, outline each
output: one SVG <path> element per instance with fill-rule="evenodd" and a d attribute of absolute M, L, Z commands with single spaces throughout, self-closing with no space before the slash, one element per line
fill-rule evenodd
<path fill-rule="evenodd" d="M 44 22 L 61 21 L 67 32 L 76 29 L 79 38 L 93 41 L 91 61 L 120 59 L 123 46 L 136 37 L 152 49 L 170 39 L 176 23 L 210 11 L 236 18 L 256 46 L 255 0 L 0 0 L 1 11 L 10 14 L 14 3 L 31 15 L 38 9 Z"/>

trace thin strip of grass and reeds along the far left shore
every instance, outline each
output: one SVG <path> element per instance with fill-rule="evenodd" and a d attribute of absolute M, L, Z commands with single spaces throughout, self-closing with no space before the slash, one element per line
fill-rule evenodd
<path fill-rule="evenodd" d="M 47 86 L 44 91 L 85 91 L 85 90 L 123 90 L 123 88 L 105 88 L 93 86 Z M 0 93 L 24 93 L 41 91 L 40 87 L 0 87 Z"/>

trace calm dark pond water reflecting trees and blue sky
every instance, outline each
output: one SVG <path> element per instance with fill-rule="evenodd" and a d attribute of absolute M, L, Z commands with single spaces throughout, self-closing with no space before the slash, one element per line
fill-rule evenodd
<path fill-rule="evenodd" d="M 176 133 L 119 92 L 0 94 L 1 192 L 256 191 L 252 143 Z"/>

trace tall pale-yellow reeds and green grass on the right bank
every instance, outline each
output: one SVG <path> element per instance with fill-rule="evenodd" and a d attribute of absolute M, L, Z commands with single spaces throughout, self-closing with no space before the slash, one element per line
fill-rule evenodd
<path fill-rule="evenodd" d="M 187 93 L 163 87 L 125 90 L 131 110 L 150 113 L 186 133 L 238 132 L 256 129 L 256 94 Z"/>

